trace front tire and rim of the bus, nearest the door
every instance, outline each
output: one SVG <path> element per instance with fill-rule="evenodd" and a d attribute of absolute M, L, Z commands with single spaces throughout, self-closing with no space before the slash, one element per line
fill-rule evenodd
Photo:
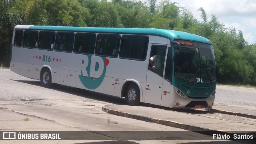
<path fill-rule="evenodd" d="M 126 91 L 125 97 L 128 105 L 138 105 L 140 103 L 140 89 L 136 84 L 130 84 Z"/>

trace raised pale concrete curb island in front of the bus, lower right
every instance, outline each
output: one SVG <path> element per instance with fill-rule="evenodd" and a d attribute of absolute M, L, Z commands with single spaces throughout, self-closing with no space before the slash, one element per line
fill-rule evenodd
<path fill-rule="evenodd" d="M 256 142 L 256 120 L 249 123 L 209 118 L 198 114 L 190 114 L 154 107 L 108 105 L 102 110 L 118 116 L 134 118 L 146 122 L 154 122 L 175 128 L 182 128 L 194 132 L 225 132 L 227 134 L 252 134 Z"/>

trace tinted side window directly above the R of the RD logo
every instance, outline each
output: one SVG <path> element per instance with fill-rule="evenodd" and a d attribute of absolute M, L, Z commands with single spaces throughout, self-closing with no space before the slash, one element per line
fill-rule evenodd
<path fill-rule="evenodd" d="M 76 33 L 74 53 L 93 54 L 96 34 Z"/>

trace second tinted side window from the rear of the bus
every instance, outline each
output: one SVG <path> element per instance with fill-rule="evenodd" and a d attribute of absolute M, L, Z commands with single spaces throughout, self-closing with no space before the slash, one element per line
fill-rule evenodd
<path fill-rule="evenodd" d="M 25 30 L 22 47 L 36 48 L 38 40 L 38 31 Z"/>

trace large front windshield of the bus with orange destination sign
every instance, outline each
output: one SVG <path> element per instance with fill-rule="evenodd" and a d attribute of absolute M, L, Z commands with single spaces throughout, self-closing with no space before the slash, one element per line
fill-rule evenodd
<path fill-rule="evenodd" d="M 188 83 L 212 83 L 216 80 L 213 46 L 194 41 L 177 40 L 180 43 L 178 62 L 174 63 L 175 76 Z"/>

